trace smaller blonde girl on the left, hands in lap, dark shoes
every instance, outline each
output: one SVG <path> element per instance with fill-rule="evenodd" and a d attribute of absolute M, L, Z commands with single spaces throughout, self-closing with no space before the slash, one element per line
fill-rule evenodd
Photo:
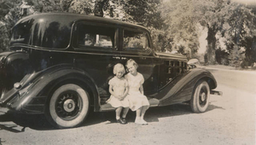
<path fill-rule="evenodd" d="M 112 107 L 116 107 L 115 113 L 117 122 L 126 124 L 127 121 L 125 117 L 129 111 L 129 102 L 126 97 L 128 93 L 128 82 L 123 77 L 125 74 L 125 67 L 120 63 L 116 64 L 113 67 L 113 74 L 115 74 L 115 77 L 111 78 L 108 82 L 109 93 L 111 96 L 107 102 L 111 104 Z M 122 118 L 120 118 L 120 113 L 123 107 L 123 115 Z"/>

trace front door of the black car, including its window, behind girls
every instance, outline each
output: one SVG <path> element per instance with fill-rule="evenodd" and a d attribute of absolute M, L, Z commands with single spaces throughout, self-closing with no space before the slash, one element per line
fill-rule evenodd
<path fill-rule="evenodd" d="M 143 30 L 124 28 L 121 58 L 125 64 L 133 59 L 137 62 L 137 72 L 142 73 L 145 79 L 143 88 L 146 96 L 152 96 L 157 91 L 158 68 L 154 65 L 152 45 L 149 43 L 149 34 Z"/>

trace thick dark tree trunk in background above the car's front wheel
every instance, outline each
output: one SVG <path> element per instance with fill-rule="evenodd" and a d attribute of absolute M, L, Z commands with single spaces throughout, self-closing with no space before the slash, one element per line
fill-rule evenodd
<path fill-rule="evenodd" d="M 214 26 L 208 26 L 208 34 L 207 34 L 207 53 L 205 55 L 206 63 L 215 64 L 215 50 L 216 50 L 216 42 L 217 39 L 215 37 L 217 31 L 214 29 Z"/>

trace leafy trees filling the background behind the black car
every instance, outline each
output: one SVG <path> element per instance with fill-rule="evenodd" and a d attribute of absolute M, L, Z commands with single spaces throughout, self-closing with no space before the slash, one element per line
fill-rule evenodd
<path fill-rule="evenodd" d="M 38 13 L 68 12 L 128 21 L 148 27 L 157 51 L 195 57 L 199 26 L 207 30 L 205 61 L 236 66 L 256 62 L 256 6 L 231 0 L 24 0 Z M 0 1 L 0 51 L 8 50 L 11 27 L 22 16 L 20 0 Z M 225 38 L 224 48 L 217 35 Z M 229 62 L 227 62 L 227 55 Z M 239 59 L 238 59 L 239 58 Z"/>

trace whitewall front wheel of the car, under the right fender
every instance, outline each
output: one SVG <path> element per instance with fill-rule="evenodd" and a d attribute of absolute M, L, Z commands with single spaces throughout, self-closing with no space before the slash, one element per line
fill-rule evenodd
<path fill-rule="evenodd" d="M 210 88 L 206 81 L 195 84 L 194 94 L 190 100 L 190 107 L 194 113 L 204 113 L 209 106 Z"/>

